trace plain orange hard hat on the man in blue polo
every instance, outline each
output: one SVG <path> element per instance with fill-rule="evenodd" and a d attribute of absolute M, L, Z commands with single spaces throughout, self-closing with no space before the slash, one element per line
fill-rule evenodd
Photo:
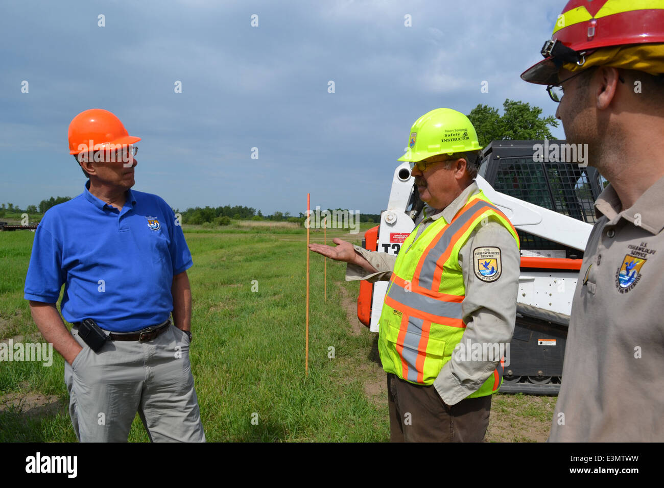
<path fill-rule="evenodd" d="M 97 151 L 111 144 L 133 144 L 141 140 L 127 133 L 120 119 L 108 110 L 92 108 L 78 114 L 69 123 L 69 153 Z"/>

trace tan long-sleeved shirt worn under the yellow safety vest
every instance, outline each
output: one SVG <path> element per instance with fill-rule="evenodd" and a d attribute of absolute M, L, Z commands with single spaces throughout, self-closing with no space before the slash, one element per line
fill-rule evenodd
<path fill-rule="evenodd" d="M 467 203 L 468 198 L 475 193 L 479 193 L 479 188 L 473 181 L 444 210 L 438 211 L 427 207 L 425 213 L 428 216 L 422 220 L 418 236 L 426 226 L 438 218 L 444 218 L 446 222 L 452 221 Z M 437 213 L 432 214 L 434 212 Z M 495 282 L 484 282 L 479 280 L 473 271 L 473 250 L 490 246 L 499 247 L 501 250 L 502 272 Z M 349 264 L 346 269 L 347 281 L 367 280 L 373 283 L 390 279 L 396 256 L 385 252 L 370 252 L 359 246 L 355 246 L 355 251 L 364 256 L 378 272 L 369 273 L 355 264 Z M 466 324 L 461 340 L 463 345 L 469 344 L 472 350 L 475 343 L 479 343 L 482 347 L 482 345 L 505 344 L 511 341 L 517 316 L 520 264 L 519 248 L 512 234 L 493 220 L 473 230 L 467 242 L 461 247 L 459 266 L 463 272 L 465 285 L 461 319 Z M 380 312 L 374 310 L 373 313 Z M 457 404 L 478 390 L 493 374 L 498 363 L 499 361 L 471 361 L 470 357 L 462 361 L 453 354 L 452 360 L 440 370 L 434 381 L 434 387 L 446 404 Z"/>

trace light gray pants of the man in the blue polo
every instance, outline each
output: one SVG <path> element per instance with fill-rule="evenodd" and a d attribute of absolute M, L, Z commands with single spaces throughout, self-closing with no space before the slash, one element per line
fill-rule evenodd
<path fill-rule="evenodd" d="M 205 442 L 183 331 L 171 325 L 149 342 L 109 340 L 96 353 L 72 335 L 83 350 L 64 362 L 64 382 L 80 442 L 127 442 L 136 412 L 153 442 Z"/>

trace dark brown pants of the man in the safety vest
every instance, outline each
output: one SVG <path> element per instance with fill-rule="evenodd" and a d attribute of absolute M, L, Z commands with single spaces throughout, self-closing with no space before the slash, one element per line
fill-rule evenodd
<path fill-rule="evenodd" d="M 434 386 L 387 374 L 391 442 L 481 442 L 489 426 L 491 395 L 449 406 Z"/>

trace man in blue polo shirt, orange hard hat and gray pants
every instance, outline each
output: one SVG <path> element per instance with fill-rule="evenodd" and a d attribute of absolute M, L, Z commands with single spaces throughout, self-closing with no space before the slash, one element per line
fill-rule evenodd
<path fill-rule="evenodd" d="M 139 140 L 106 110 L 72 120 L 70 153 L 88 182 L 44 214 L 25 299 L 65 359 L 78 440 L 125 442 L 138 412 L 152 441 L 204 442 L 189 363 L 191 254 L 169 205 L 131 191 Z M 56 308 L 62 284 L 71 333 Z"/>

